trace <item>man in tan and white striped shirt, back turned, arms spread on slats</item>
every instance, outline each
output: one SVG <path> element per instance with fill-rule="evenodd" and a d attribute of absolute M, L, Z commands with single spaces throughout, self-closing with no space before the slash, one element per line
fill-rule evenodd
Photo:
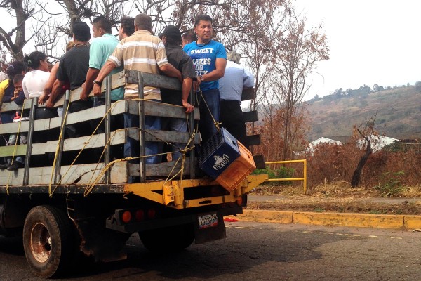
<path fill-rule="evenodd" d="M 161 39 L 152 34 L 152 18 L 146 14 L 139 14 L 135 18 L 135 33 L 121 40 L 107 63 L 101 68 L 98 77 L 93 81 L 93 93 L 100 96 L 100 86 L 109 72 L 115 67 L 124 65 L 125 70 L 137 70 L 152 74 L 163 72 L 169 77 L 176 77 L 182 80 L 181 73 L 168 63 L 165 46 Z M 161 102 L 161 91 L 158 88 L 145 86 L 143 89 L 145 100 Z M 138 84 L 126 84 L 124 99 L 138 98 Z M 126 114 L 124 117 L 124 126 L 138 127 L 139 118 L 135 115 Z M 145 129 L 161 129 L 161 120 L 159 117 L 145 116 Z M 159 152 L 158 143 L 147 142 L 145 145 L 146 155 L 154 155 Z M 128 143 L 124 145 L 124 157 L 136 157 L 139 155 L 139 145 L 129 138 Z M 146 164 L 159 163 L 161 157 L 147 157 Z M 138 162 L 138 161 L 137 161 Z"/>

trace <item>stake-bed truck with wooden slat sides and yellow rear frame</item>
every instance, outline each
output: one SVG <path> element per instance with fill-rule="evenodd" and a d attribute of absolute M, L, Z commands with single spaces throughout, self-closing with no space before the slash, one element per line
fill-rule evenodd
<path fill-rule="evenodd" d="M 139 98 L 111 103 L 109 92 L 126 83 L 138 84 Z M 147 249 L 157 252 L 222 239 L 226 237 L 224 216 L 241 214 L 247 193 L 266 180 L 265 175 L 249 175 L 227 190 L 203 175 L 198 168 L 200 138 L 194 130 L 198 110 L 187 115 L 183 107 L 144 100 L 145 85 L 181 89 L 177 79 L 123 71 L 107 77 L 102 85 L 105 105 L 89 110 L 68 112 L 69 103 L 79 100 L 80 88 L 66 91 L 55 103 L 55 108 L 63 108 L 62 117 L 35 119 L 36 98 L 23 105 L 1 105 L 1 112 L 29 112 L 29 120 L 0 125 L 3 136 L 27 135 L 26 144 L 0 147 L 0 157 L 25 156 L 24 167 L 0 170 L 0 235 L 22 237 L 35 275 L 65 275 L 87 259 L 125 259 L 126 241 L 133 233 Z M 194 95 L 190 96 L 193 103 Z M 138 116 L 139 127 L 112 131 L 112 118 L 124 114 Z M 188 118 L 189 132 L 147 130 L 147 115 Z M 250 121 L 257 115 L 247 116 Z M 103 131 L 65 138 L 67 126 L 88 122 L 103 124 Z M 49 139 L 39 143 L 36 134 Z M 128 138 L 139 141 L 140 157 L 112 158 L 112 151 L 121 149 Z M 256 139 L 250 136 L 250 144 Z M 180 159 L 146 165 L 146 141 L 187 145 Z M 94 157 L 98 152 L 100 157 Z M 37 162 L 39 157 L 49 157 L 48 165 Z M 130 177 L 138 181 L 130 183 Z"/>

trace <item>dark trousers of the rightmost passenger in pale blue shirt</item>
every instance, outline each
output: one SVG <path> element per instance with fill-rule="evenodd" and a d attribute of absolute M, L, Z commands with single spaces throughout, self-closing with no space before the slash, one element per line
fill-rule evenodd
<path fill-rule="evenodd" d="M 246 124 L 244 123 L 243 111 L 238 100 L 221 100 L 220 122 L 241 144 L 246 143 Z"/>

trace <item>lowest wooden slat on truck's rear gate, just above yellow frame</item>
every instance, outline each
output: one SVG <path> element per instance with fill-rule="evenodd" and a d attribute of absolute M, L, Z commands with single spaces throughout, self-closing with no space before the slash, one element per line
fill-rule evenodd
<path fill-rule="evenodd" d="M 175 164 L 175 161 L 173 162 L 165 162 L 160 164 L 150 164 L 146 165 L 146 176 L 168 176 L 170 174 L 171 170 L 173 169 L 173 166 Z M 178 171 L 181 169 L 181 161 L 178 162 L 177 166 L 175 166 L 172 176 L 177 174 Z M 139 164 L 128 164 L 128 174 L 130 176 L 140 176 L 140 169 Z M 184 176 L 188 176 L 190 172 L 190 160 L 189 157 L 186 157 L 185 160 L 185 166 L 184 166 Z"/>

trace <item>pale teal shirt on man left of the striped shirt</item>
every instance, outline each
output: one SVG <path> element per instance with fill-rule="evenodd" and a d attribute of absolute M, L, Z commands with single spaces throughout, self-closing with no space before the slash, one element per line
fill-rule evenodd
<path fill-rule="evenodd" d="M 119 44 L 119 39 L 114 35 L 106 33 L 101 37 L 95 38 L 91 42 L 91 47 L 89 50 L 89 67 L 96 68 L 100 70 L 102 66 L 105 65 L 107 59 L 112 54 L 117 44 Z M 110 75 L 117 72 L 121 72 L 123 67 L 116 67 Z M 122 100 L 124 98 L 124 88 L 120 87 L 111 91 L 112 100 Z"/>

